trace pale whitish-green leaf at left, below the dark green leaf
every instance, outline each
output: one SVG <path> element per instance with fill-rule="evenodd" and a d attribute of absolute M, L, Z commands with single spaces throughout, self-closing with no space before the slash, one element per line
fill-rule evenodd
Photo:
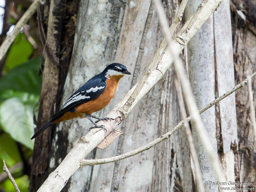
<path fill-rule="evenodd" d="M 22 103 L 18 98 L 5 100 L 0 106 L 0 123 L 3 131 L 14 140 L 33 149 L 34 141 L 30 140 L 35 128 L 32 106 Z"/>

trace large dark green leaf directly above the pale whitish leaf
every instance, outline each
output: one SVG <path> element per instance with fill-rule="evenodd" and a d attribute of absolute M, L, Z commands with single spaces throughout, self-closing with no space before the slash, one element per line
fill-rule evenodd
<path fill-rule="evenodd" d="M 14 90 L 40 94 L 42 76 L 38 76 L 40 59 L 37 57 L 13 68 L 0 78 L 0 92 Z"/>

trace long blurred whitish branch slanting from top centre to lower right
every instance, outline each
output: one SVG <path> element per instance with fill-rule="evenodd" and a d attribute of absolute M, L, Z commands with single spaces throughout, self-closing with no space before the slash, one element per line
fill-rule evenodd
<path fill-rule="evenodd" d="M 204 150 L 205 150 L 207 156 L 209 157 L 209 160 L 212 164 L 212 168 L 213 168 L 218 180 L 225 182 L 226 177 L 224 176 L 224 173 L 223 173 L 223 171 L 220 167 L 220 164 L 219 164 L 219 161 L 218 161 L 218 156 L 217 156 L 217 154 L 215 153 L 215 151 L 212 147 L 212 144 L 210 142 L 210 138 L 209 138 L 209 136 L 208 136 L 208 134 L 207 134 L 207 132 L 204 128 L 203 121 L 202 121 L 202 119 L 201 119 L 201 117 L 200 117 L 200 115 L 197 111 L 196 100 L 194 98 L 192 89 L 190 87 L 190 83 L 189 83 L 189 81 L 186 77 L 184 67 L 183 67 L 182 63 L 180 62 L 180 60 L 178 59 L 177 55 L 174 54 L 175 53 L 175 50 L 173 49 L 174 43 L 173 43 L 173 40 L 170 37 L 169 32 L 168 32 L 169 26 L 168 26 L 168 21 L 166 19 L 166 16 L 164 14 L 164 8 L 162 7 L 159 0 L 155 0 L 154 2 L 155 2 L 156 10 L 158 12 L 159 21 L 162 25 L 162 29 L 163 29 L 163 32 L 164 32 L 165 39 L 167 40 L 167 43 L 169 44 L 168 47 L 170 49 L 171 56 L 174 60 L 174 68 L 176 70 L 178 78 L 180 79 L 181 87 L 182 87 L 182 90 L 183 90 L 183 93 L 184 93 L 184 98 L 185 98 L 186 104 L 188 106 L 189 112 L 193 116 L 193 120 L 194 120 L 194 123 L 196 125 L 195 126 L 196 130 L 199 134 L 199 137 L 200 137 L 200 139 L 202 141 L 202 144 L 204 146 Z M 208 0 L 205 0 L 205 1 L 202 2 L 202 4 L 205 5 L 208 2 L 209 2 Z M 203 6 L 199 6 L 198 9 L 203 9 L 202 7 Z M 190 22 L 194 21 L 194 17 L 192 18 L 192 20 Z M 189 23 L 188 26 L 191 26 L 191 23 Z"/>

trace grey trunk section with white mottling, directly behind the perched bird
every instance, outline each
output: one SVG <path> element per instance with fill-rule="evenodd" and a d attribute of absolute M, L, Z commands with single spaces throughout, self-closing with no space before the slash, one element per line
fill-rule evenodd
<path fill-rule="evenodd" d="M 87 80 L 114 61 L 124 10 L 125 2 L 122 1 L 80 1 L 75 46 L 64 87 L 63 102 Z M 127 68 L 128 70 L 133 70 L 131 64 L 127 65 Z M 124 86 L 122 88 L 124 90 L 120 90 L 119 85 L 116 92 L 120 94 L 116 94 L 113 101 L 119 101 L 124 93 L 129 90 L 130 86 L 124 83 L 125 78 L 129 79 L 131 77 L 121 79 L 120 84 L 123 82 Z M 116 104 L 113 101 L 106 108 L 107 111 Z M 106 115 L 105 110 L 95 113 L 95 115 L 103 116 L 103 113 Z M 59 165 L 78 139 L 86 134 L 88 130 L 84 128 L 91 126 L 91 122 L 87 119 L 76 119 L 60 123 L 52 142 L 50 170 Z M 95 152 L 96 149 L 87 158 L 94 158 Z M 93 166 L 87 166 L 76 171 L 63 191 L 89 191 L 92 170 Z"/>

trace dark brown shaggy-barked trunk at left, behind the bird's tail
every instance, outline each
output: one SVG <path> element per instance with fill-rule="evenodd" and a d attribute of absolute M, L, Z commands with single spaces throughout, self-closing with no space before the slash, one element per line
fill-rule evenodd
<path fill-rule="evenodd" d="M 70 9 L 65 10 L 63 3 L 67 4 L 68 0 L 65 2 L 62 0 L 45 1 L 45 4 L 38 10 L 40 35 L 45 48 L 45 61 L 42 67 L 43 82 L 36 130 L 49 121 L 60 105 L 60 95 L 73 47 L 72 33 L 74 32 L 72 32 L 72 28 L 74 28 L 75 23 L 70 23 L 70 18 L 76 14 L 76 8 L 71 9 L 70 6 Z M 69 5 L 77 6 L 76 3 L 77 1 L 72 1 L 72 4 Z M 48 19 L 47 24 L 45 18 Z M 73 27 L 70 27 L 72 24 Z M 62 31 L 64 32 L 62 33 Z M 46 129 L 35 139 L 29 191 L 37 190 L 49 174 L 51 133 L 54 131 L 52 128 L 54 126 Z"/>

